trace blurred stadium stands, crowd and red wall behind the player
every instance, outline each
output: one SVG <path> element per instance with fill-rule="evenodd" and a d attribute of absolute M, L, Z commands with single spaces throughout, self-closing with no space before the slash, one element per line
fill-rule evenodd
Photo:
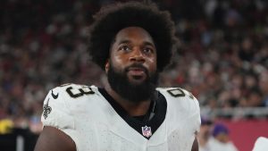
<path fill-rule="evenodd" d="M 113 2 L 1 0 L 0 150 L 32 150 L 50 88 L 102 86 L 103 71 L 88 62 L 87 29 L 92 14 Z M 179 38 L 160 86 L 191 91 L 202 116 L 224 122 L 239 150 L 251 150 L 255 138 L 268 137 L 267 2 L 154 2 L 172 13 Z"/>

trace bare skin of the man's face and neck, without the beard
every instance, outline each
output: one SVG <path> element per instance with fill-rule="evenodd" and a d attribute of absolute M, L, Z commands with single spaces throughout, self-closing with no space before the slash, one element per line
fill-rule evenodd
<path fill-rule="evenodd" d="M 111 46 L 110 59 L 105 65 L 105 71 L 110 69 L 113 63 L 115 71 L 125 72 L 126 67 L 133 63 L 143 65 L 149 74 L 156 71 L 156 48 L 153 38 L 145 29 L 138 27 L 129 27 L 121 29 L 115 37 Z M 131 84 L 140 84 L 147 79 L 145 71 L 138 68 L 130 68 L 126 71 L 127 77 Z M 143 115 L 147 113 L 151 100 L 143 100 L 139 103 L 133 103 L 122 98 L 117 94 L 109 84 L 105 86 L 109 95 L 113 96 L 124 109 L 132 116 Z"/>

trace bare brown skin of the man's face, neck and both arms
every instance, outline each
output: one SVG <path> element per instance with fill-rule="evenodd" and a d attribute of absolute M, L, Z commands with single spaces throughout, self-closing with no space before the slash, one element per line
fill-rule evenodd
<path fill-rule="evenodd" d="M 152 74 L 156 71 L 156 48 L 153 38 L 145 29 L 138 27 L 129 27 L 121 29 L 115 36 L 115 40 L 110 50 L 110 60 L 105 64 L 105 71 L 110 69 L 113 63 L 114 70 L 124 71 L 124 69 L 133 63 L 142 64 Z M 130 68 L 126 71 L 130 83 L 140 84 L 147 79 L 145 71 L 139 68 Z M 122 98 L 117 94 L 109 84 L 105 90 L 116 100 L 130 115 L 138 116 L 147 113 L 150 99 L 143 100 L 139 103 L 133 103 Z M 75 151 L 75 143 L 63 131 L 53 127 L 44 127 L 38 138 L 35 151 Z M 195 139 L 192 151 L 198 150 L 197 138 Z"/>

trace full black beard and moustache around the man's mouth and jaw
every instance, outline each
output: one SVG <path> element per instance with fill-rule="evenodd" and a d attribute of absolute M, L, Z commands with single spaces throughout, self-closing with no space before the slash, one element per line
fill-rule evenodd
<path fill-rule="evenodd" d="M 133 103 L 147 101 L 147 99 L 154 99 L 155 88 L 158 83 L 159 72 L 155 71 L 149 75 L 147 69 L 141 64 L 132 64 L 123 71 L 116 71 L 113 63 L 110 63 L 110 69 L 107 72 L 108 82 L 113 90 L 124 99 Z M 146 79 L 140 83 L 130 82 L 127 71 L 130 67 L 142 68 L 146 73 Z"/>

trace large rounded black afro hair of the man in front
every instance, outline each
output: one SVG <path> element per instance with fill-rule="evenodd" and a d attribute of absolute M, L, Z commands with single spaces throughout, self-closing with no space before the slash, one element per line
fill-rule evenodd
<path fill-rule="evenodd" d="M 89 29 L 88 53 L 94 63 L 105 69 L 110 46 L 115 35 L 124 28 L 137 26 L 146 29 L 155 41 L 157 69 L 163 71 L 171 62 L 176 41 L 171 14 L 160 11 L 154 3 L 128 2 L 103 7 L 94 16 Z"/>

